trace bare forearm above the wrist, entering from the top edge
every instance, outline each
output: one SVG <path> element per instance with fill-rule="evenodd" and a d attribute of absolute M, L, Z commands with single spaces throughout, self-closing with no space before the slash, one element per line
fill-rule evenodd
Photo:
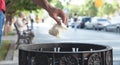
<path fill-rule="evenodd" d="M 36 3 L 37 5 L 41 6 L 42 8 L 44 8 L 47 11 L 54 9 L 54 7 L 49 4 L 48 0 L 33 0 L 33 2 Z"/>

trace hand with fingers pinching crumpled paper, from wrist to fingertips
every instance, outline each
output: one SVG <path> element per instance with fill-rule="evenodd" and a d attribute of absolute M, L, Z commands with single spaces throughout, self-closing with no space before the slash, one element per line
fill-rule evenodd
<path fill-rule="evenodd" d="M 67 25 L 68 17 L 61 9 L 52 8 L 51 11 L 48 11 L 49 15 L 57 22 L 57 24 L 61 25 L 61 21 L 58 17 L 62 19 L 62 22 Z"/>

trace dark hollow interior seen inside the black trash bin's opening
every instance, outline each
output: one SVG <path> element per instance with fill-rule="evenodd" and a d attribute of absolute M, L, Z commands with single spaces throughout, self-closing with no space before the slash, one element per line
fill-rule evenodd
<path fill-rule="evenodd" d="M 60 52 L 72 51 L 72 48 L 79 48 L 79 51 L 103 50 L 106 46 L 84 43 L 49 43 L 49 44 L 33 44 L 21 47 L 21 49 L 29 51 L 54 51 L 54 48 L 60 48 Z"/>

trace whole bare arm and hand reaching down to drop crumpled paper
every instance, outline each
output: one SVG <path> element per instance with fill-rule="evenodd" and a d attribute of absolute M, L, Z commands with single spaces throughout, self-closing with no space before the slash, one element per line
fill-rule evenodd
<path fill-rule="evenodd" d="M 58 24 L 61 24 L 58 17 L 61 17 L 62 22 L 64 24 L 67 24 L 67 16 L 61 9 L 51 6 L 47 0 L 33 0 L 33 1 L 42 8 L 44 8 Z"/>

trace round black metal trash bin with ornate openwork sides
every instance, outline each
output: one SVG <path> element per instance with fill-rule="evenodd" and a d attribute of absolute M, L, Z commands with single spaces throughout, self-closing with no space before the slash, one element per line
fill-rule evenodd
<path fill-rule="evenodd" d="M 113 53 L 88 43 L 28 44 L 19 47 L 19 65 L 113 65 Z"/>

